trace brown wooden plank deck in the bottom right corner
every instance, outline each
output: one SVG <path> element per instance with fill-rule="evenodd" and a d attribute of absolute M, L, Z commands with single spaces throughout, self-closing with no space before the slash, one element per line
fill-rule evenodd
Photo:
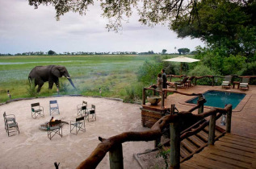
<path fill-rule="evenodd" d="M 256 168 L 256 139 L 225 134 L 214 146 L 181 163 L 181 168 Z"/>

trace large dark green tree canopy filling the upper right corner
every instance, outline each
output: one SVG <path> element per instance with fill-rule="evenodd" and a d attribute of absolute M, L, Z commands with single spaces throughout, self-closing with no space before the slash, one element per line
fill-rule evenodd
<path fill-rule="evenodd" d="M 254 7 L 253 1 L 246 6 L 226 0 L 201 1 L 193 13 L 199 19 L 185 13 L 171 27 L 178 37 L 199 38 L 212 49 L 225 49 L 225 56 L 241 53 L 250 60 L 256 49 Z"/>

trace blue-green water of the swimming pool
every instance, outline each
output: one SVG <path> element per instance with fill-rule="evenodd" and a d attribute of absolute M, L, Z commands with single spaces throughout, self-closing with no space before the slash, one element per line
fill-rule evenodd
<path fill-rule="evenodd" d="M 244 93 L 229 93 L 229 92 L 220 92 L 215 90 L 209 90 L 204 93 L 204 98 L 206 103 L 204 105 L 225 108 L 225 105 L 232 104 L 232 108 L 235 109 L 240 101 L 246 97 Z M 198 97 L 195 97 L 191 100 L 186 101 L 187 103 L 197 104 Z"/>

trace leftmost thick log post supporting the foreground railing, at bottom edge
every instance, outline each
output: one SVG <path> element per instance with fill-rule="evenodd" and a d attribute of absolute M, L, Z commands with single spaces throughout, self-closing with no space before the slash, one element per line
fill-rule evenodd
<path fill-rule="evenodd" d="M 109 150 L 110 169 L 124 169 L 122 144 L 118 144 Z"/>

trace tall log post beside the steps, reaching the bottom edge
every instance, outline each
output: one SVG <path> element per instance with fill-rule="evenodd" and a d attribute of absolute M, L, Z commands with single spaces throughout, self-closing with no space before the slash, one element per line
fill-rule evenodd
<path fill-rule="evenodd" d="M 170 167 L 179 168 L 180 131 L 178 121 L 170 123 Z"/>

